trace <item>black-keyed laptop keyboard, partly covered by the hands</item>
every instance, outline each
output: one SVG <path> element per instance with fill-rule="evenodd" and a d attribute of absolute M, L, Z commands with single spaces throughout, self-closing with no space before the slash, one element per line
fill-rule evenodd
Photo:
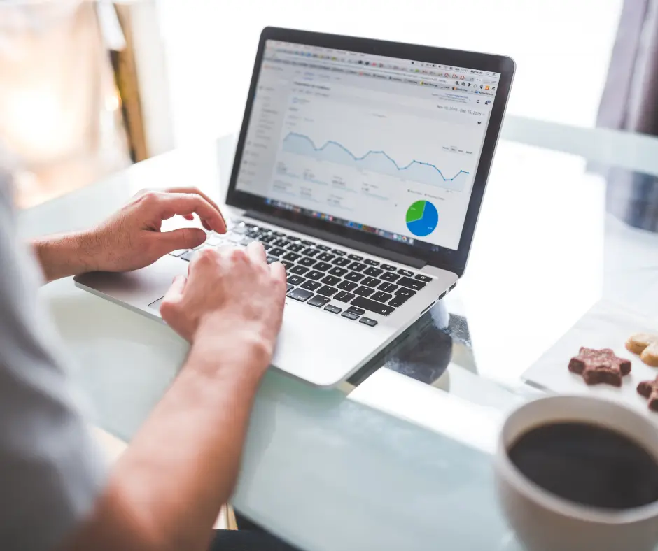
<path fill-rule="evenodd" d="M 279 261 L 286 266 L 290 299 L 347 320 L 358 320 L 368 327 L 377 325 L 373 315 L 391 315 L 433 279 L 340 248 L 302 240 L 265 225 L 241 220 L 227 223 L 226 234 L 211 232 L 196 249 L 169 254 L 189 262 L 203 247 L 246 246 L 260 241 L 268 264 Z"/>

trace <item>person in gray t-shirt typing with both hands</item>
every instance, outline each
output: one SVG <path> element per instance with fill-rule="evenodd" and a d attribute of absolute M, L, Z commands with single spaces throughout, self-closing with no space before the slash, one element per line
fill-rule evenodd
<path fill-rule="evenodd" d="M 197 215 L 219 233 L 225 221 L 198 189 L 146 191 L 98 227 L 38 238 L 29 251 L 10 196 L 0 173 L 0 549 L 207 550 L 281 327 L 285 269 L 268 265 L 259 243 L 195 255 L 161 310 L 190 343 L 185 365 L 109 469 L 38 304 L 36 264 L 46 281 L 139 269 L 206 239 L 200 228 L 161 231 L 163 220 Z M 292 549 L 273 536 L 246 540 L 262 551 Z M 217 536 L 217 549 L 230 545 Z"/>

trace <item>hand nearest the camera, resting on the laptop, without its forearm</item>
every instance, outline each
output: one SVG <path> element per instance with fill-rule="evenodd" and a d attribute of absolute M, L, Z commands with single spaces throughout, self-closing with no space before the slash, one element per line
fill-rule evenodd
<path fill-rule="evenodd" d="M 204 248 L 177 277 L 162 300 L 162 318 L 195 346 L 223 341 L 226 348 L 255 354 L 267 368 L 281 329 L 286 270 L 268 265 L 260 243 L 246 249 Z"/>

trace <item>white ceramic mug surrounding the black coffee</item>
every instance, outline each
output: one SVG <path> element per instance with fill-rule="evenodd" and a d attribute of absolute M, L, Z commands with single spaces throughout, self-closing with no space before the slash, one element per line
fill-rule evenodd
<path fill-rule="evenodd" d="M 657 414 L 658 415 L 658 414 Z M 598 424 L 632 438 L 658 459 L 658 429 L 613 401 L 547 396 L 507 417 L 496 452 L 496 489 L 507 520 L 528 551 L 652 551 L 658 543 L 658 502 L 624 510 L 592 508 L 547 492 L 507 451 L 528 430 L 556 422 Z"/>

